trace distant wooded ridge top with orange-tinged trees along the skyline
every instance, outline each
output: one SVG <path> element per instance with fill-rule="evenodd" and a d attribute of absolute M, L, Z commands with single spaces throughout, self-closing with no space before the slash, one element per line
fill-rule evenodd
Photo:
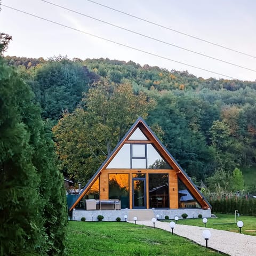
<path fill-rule="evenodd" d="M 20 67 L 24 66 L 26 69 L 41 67 L 47 62 L 69 62 L 67 57 L 55 57 L 45 60 L 43 58 L 25 58 L 25 57 L 5 57 L 9 65 Z M 228 79 L 203 79 L 189 74 L 188 71 L 167 70 L 159 67 L 150 67 L 148 65 L 141 66 L 133 61 L 125 62 L 119 60 L 109 59 L 86 59 L 81 60 L 74 58 L 71 63 L 79 63 L 81 66 L 86 66 L 95 74 L 101 77 L 108 77 L 115 83 L 120 83 L 122 79 L 129 79 L 141 85 L 148 90 L 174 90 L 174 89 L 197 89 L 208 88 L 211 90 L 226 89 L 229 91 L 236 91 L 241 88 L 250 87 L 256 90 L 255 82 L 238 81 Z"/>

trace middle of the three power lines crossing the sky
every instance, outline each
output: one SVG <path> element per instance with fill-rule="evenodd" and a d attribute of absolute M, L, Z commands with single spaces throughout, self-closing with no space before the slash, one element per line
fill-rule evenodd
<path fill-rule="evenodd" d="M 136 31 L 133 31 L 133 30 L 130 30 L 130 29 L 127 29 L 127 28 L 123 28 L 123 27 L 117 26 L 117 25 L 115 25 L 115 24 L 113 24 L 113 23 L 109 23 L 109 22 L 107 22 L 107 21 L 103 21 L 103 20 L 94 18 L 94 17 L 92 17 L 92 16 L 90 16 L 90 15 L 87 15 L 87 14 L 84 14 L 84 13 L 81 13 L 81 12 L 77 12 L 77 11 L 68 9 L 68 8 L 66 8 L 66 7 L 64 7 L 64 6 L 61 6 L 61 5 L 58 5 L 58 4 L 54 4 L 54 3 L 49 2 L 49 1 L 46 1 L 46 0 L 41 0 L 41 1 L 43 1 L 43 2 L 45 2 L 45 3 L 47 3 L 47 4 L 51 4 L 51 5 L 57 6 L 57 7 L 61 8 L 61 9 L 67 10 L 67 11 L 70 11 L 70 12 L 73 12 L 73 13 L 77 13 L 77 14 L 82 15 L 82 16 L 84 16 L 84 17 L 87 17 L 87 18 L 90 18 L 90 19 L 93 19 L 93 20 L 97 20 L 97 21 L 103 22 L 103 23 L 105 23 L 105 24 L 107 24 L 107 25 L 110 25 L 110 26 L 113 26 L 113 27 L 116 27 L 116 28 L 119 28 L 119 29 L 123 29 L 123 30 L 125 30 L 125 31 L 129 31 L 129 32 L 131 32 L 131 33 L 133 33 L 133 34 L 140 35 L 140 36 L 143 36 L 143 37 L 152 39 L 152 40 L 157 41 L 157 42 L 159 42 L 159 43 L 163 43 L 163 44 L 167 44 L 167 45 L 170 45 L 170 46 L 174 46 L 174 47 L 177 47 L 177 48 L 179 48 L 179 49 L 181 49 L 181 50 L 188 51 L 188 52 L 192 52 L 192 53 L 201 55 L 201 56 L 206 57 L 206 58 L 210 58 L 210 59 L 217 60 L 217 61 L 220 61 L 220 62 L 223 62 L 223 63 L 227 63 L 227 64 L 229 64 L 229 65 L 233 65 L 233 66 L 238 67 L 238 68 L 243 68 L 243 69 L 247 69 L 247 70 L 256 72 L 255 69 L 251 69 L 251 68 L 247 68 L 247 67 L 244 67 L 244 66 L 240 66 L 240 65 L 237 65 L 237 64 L 235 64 L 235 63 L 226 61 L 226 60 L 221 60 L 221 59 L 218 59 L 218 58 L 215 58 L 215 57 L 212 57 L 212 56 L 209 56 L 209 55 L 200 53 L 200 52 L 196 52 L 196 51 L 193 51 L 193 50 L 189 50 L 189 49 L 186 49 L 186 48 L 184 48 L 184 47 L 181 47 L 181 46 L 178 46 L 178 45 L 175 45 L 175 44 L 171 44 L 171 43 L 162 41 L 162 40 L 160 40 L 160 39 L 157 39 L 157 38 L 154 38 L 154 37 L 151 37 L 151 36 L 147 36 L 147 35 L 138 33 L 138 32 L 136 32 Z"/>

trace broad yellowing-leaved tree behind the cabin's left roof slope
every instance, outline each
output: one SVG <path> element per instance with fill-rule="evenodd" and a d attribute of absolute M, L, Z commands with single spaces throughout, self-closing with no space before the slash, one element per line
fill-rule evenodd
<path fill-rule="evenodd" d="M 62 169 L 70 178 L 86 181 L 111 153 L 130 125 L 155 103 L 131 84 L 102 81 L 84 94 L 83 104 L 53 127 Z"/>

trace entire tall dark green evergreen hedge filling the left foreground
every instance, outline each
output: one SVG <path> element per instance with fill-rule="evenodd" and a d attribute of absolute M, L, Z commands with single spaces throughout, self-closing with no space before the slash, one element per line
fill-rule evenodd
<path fill-rule="evenodd" d="M 40 112 L 0 59 L 0 255 L 65 254 L 63 178 Z"/>

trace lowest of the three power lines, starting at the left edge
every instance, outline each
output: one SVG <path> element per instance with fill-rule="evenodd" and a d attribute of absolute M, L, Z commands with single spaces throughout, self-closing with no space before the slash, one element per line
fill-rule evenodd
<path fill-rule="evenodd" d="M 135 50 L 135 51 L 147 53 L 147 54 L 149 54 L 149 55 L 152 55 L 152 56 L 155 56 L 155 57 L 158 57 L 158 58 L 161 58 L 161 59 L 165 59 L 165 60 L 169 60 L 169 61 L 172 61 L 172 62 L 176 62 L 176 63 L 182 64 L 182 65 L 188 66 L 188 67 L 200 69 L 200 70 L 203 70 L 203 71 L 212 73 L 212 74 L 216 74 L 216 75 L 225 76 L 225 77 L 228 77 L 228 78 L 231 78 L 231 79 L 239 80 L 239 79 L 236 78 L 236 77 L 232 77 L 232 76 L 224 75 L 224 74 L 221 74 L 221 73 L 217 73 L 217 72 L 215 72 L 215 71 L 211 71 L 211 70 L 208 70 L 208 69 L 204 69 L 204 68 L 200 68 L 200 67 L 197 67 L 197 66 L 193 66 L 193 65 L 190 65 L 190 64 L 187 64 L 187 63 L 183 63 L 183 62 L 180 62 L 180 61 L 177 61 L 177 60 L 172 60 L 172 59 L 170 59 L 170 58 L 163 57 L 163 56 L 158 55 L 158 54 L 155 54 L 155 53 L 147 52 L 147 51 L 144 51 L 144 50 L 141 50 L 141 49 L 138 49 L 138 48 L 129 46 L 129 45 L 125 45 L 125 44 L 122 44 L 122 43 L 118 43 L 118 42 L 112 41 L 112 40 L 110 40 L 110 39 L 101 37 L 101 36 L 93 35 L 93 34 L 90 34 L 90 33 L 85 32 L 85 31 L 83 31 L 83 30 L 79 30 L 79 29 L 76 29 L 76 28 L 73 28 L 73 27 L 69 27 L 69 26 L 64 25 L 64 24 L 62 24 L 62 23 L 55 22 L 55 21 L 52 21 L 52 20 L 49 20 L 49 19 L 45 19 L 45 18 L 39 17 L 39 16 L 37 16 L 37 15 L 35 15 L 35 14 L 31 14 L 31 13 L 28 13 L 28 12 L 25 12 L 25 11 L 21 11 L 21 10 L 19 10 L 19 9 L 15 9 L 14 7 L 7 6 L 7 5 L 5 5 L 5 4 L 1 4 L 1 5 L 4 6 L 4 7 L 9 8 L 9 9 L 12 9 L 12 10 L 14 10 L 14 11 L 21 12 L 21 13 L 25 13 L 25 14 L 30 15 L 30 16 L 32 16 L 32 17 L 35 17 L 35 18 L 38 18 L 38 19 L 41 19 L 41 20 L 44 20 L 44 21 L 47 21 L 47 22 L 54 23 L 55 25 L 59 25 L 59 26 L 61 26 L 61 27 L 69 28 L 69 29 L 72 29 L 72 30 L 81 32 L 81 33 L 83 33 L 83 34 L 86 34 L 86 35 L 89 35 L 89 36 L 93 36 L 93 37 L 96 37 L 96 38 L 105 40 L 105 41 L 110 42 L 110 43 L 114 43 L 114 44 L 117 44 L 117 45 L 124 46 L 124 47 L 126 47 L 126 48 L 129 48 L 129 49 L 132 49 L 132 50 Z"/>

